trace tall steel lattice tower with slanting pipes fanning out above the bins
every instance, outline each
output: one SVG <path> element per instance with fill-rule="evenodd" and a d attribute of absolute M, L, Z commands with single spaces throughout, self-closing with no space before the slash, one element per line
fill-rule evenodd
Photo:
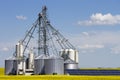
<path fill-rule="evenodd" d="M 35 34 L 37 32 L 37 35 Z M 27 31 L 23 40 L 20 43 L 24 46 L 22 52 L 22 59 L 25 62 L 27 49 L 29 49 L 29 45 L 32 40 L 37 37 L 37 44 L 34 45 L 34 49 L 37 49 L 37 56 L 40 54 L 50 55 L 56 54 L 59 55 L 59 51 L 61 49 L 73 49 L 76 50 L 75 47 L 66 39 L 58 30 L 56 30 L 47 18 L 47 7 L 44 6 L 42 8 L 41 13 L 38 14 L 37 20 L 34 22 L 32 27 Z M 59 46 L 59 47 L 58 47 Z M 17 55 L 17 53 L 16 53 Z M 63 57 L 64 58 L 64 57 Z M 24 67 L 24 63 L 22 65 L 22 69 Z M 19 71 L 18 71 L 19 72 Z"/>

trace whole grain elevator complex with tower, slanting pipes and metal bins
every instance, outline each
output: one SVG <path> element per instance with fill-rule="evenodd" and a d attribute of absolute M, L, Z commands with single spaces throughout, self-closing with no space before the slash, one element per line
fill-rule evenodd
<path fill-rule="evenodd" d="M 35 38 L 35 32 L 37 33 L 37 39 Z M 36 40 L 37 44 L 33 43 L 33 45 L 30 45 L 32 41 Z M 38 56 L 34 55 L 33 52 L 26 56 L 27 50 L 31 46 L 33 49 L 37 49 L 35 52 L 37 51 Z M 61 55 L 55 56 L 58 55 L 60 49 L 63 49 Z M 37 75 L 62 75 L 64 74 L 64 64 L 65 68 L 74 69 L 77 68 L 78 63 L 78 53 L 74 46 L 47 19 L 46 6 L 38 14 L 37 20 L 27 31 L 25 37 L 16 45 L 14 57 L 13 59 L 5 60 L 6 74 L 23 75 L 33 74 L 34 72 Z M 75 61 L 76 64 L 67 63 L 66 60 L 69 58 Z M 72 67 L 70 67 L 71 65 Z"/>

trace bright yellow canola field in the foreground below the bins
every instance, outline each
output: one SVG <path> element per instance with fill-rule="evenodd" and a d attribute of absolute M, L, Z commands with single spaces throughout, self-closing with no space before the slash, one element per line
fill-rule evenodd
<path fill-rule="evenodd" d="M 7 76 L 0 68 L 0 80 L 120 80 L 120 76 L 70 76 L 70 75 L 32 75 Z"/>

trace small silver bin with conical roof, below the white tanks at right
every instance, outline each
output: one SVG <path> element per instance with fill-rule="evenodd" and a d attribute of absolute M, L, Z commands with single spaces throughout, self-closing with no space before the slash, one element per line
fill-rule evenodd
<path fill-rule="evenodd" d="M 64 68 L 65 69 L 78 69 L 78 63 L 76 63 L 75 61 L 71 59 L 67 59 L 64 62 Z"/>

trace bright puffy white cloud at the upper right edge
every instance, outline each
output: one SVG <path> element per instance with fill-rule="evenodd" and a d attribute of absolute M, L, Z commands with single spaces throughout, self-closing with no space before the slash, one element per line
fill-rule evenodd
<path fill-rule="evenodd" d="M 116 25 L 120 24 L 120 15 L 112 15 L 111 13 L 102 14 L 96 13 L 90 16 L 90 20 L 78 21 L 79 25 Z"/>

